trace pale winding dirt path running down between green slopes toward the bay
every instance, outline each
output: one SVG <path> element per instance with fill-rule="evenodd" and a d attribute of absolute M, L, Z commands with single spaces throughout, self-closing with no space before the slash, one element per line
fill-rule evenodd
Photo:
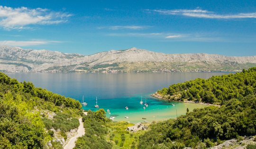
<path fill-rule="evenodd" d="M 84 128 L 83 128 L 83 123 L 82 123 L 82 118 L 79 119 L 79 127 L 78 127 L 78 134 L 73 136 L 68 143 L 64 146 L 64 149 L 73 149 L 75 147 L 75 141 L 77 140 L 78 137 L 82 137 L 84 135 Z"/>

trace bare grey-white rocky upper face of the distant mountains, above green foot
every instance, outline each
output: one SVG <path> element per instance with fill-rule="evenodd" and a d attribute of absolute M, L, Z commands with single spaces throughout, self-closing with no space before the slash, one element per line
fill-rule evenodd
<path fill-rule="evenodd" d="M 86 65 L 88 68 L 97 65 L 132 62 L 204 62 L 246 64 L 256 63 L 256 56 L 224 56 L 206 53 L 165 54 L 137 48 L 111 50 L 84 56 L 81 54 L 60 53 L 48 50 L 25 50 L 19 47 L 0 46 L 0 70 L 9 72 L 45 72 L 64 67 L 75 70 Z M 64 71 L 58 70 L 58 71 Z"/>

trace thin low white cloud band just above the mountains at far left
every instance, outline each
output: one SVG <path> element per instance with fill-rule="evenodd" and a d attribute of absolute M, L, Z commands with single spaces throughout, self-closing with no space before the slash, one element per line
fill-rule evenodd
<path fill-rule="evenodd" d="M 0 41 L 0 45 L 9 46 L 32 46 L 41 44 L 61 43 L 60 41 L 47 41 L 47 40 L 29 40 L 29 41 L 15 41 L 15 40 L 4 40 Z"/>

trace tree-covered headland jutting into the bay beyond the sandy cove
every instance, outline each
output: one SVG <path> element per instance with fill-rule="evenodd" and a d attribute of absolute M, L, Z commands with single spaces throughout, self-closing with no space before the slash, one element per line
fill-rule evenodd
<path fill-rule="evenodd" d="M 235 74 L 194 79 L 157 91 L 165 99 L 221 105 L 232 98 L 256 94 L 256 68 Z"/>

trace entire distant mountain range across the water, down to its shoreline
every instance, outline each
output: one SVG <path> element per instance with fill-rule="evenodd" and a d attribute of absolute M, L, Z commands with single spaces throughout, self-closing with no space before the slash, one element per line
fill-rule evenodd
<path fill-rule="evenodd" d="M 84 56 L 76 53 L 0 46 L 0 70 L 6 72 L 240 71 L 255 66 L 256 56 L 165 54 L 136 48 Z"/>

